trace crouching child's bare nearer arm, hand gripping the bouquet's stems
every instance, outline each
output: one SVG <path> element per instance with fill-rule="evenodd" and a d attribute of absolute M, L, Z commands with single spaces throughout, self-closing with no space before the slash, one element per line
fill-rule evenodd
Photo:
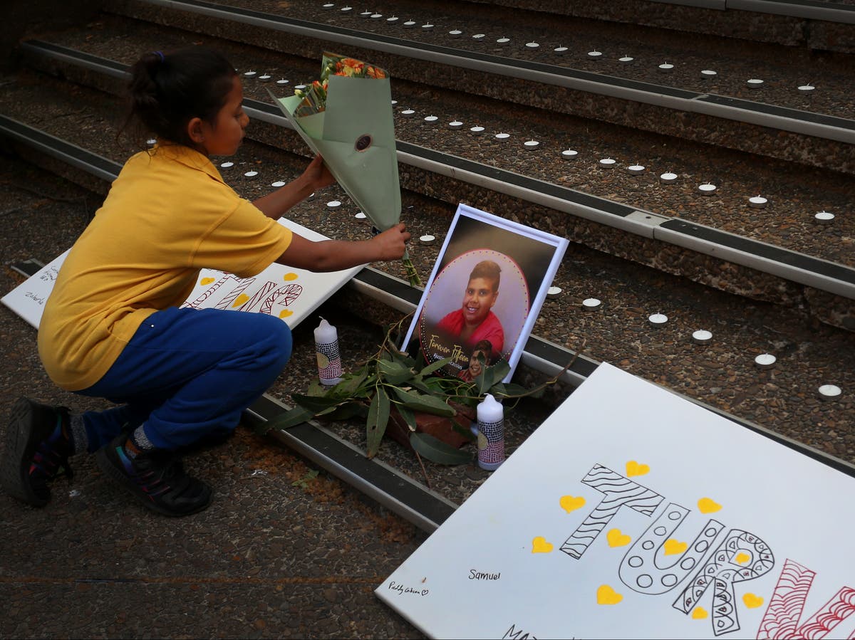
<path fill-rule="evenodd" d="M 404 255 L 404 243 L 410 239 L 403 222 L 399 222 L 370 240 L 311 240 L 293 235 L 285 253 L 276 259 L 280 264 L 307 271 L 339 271 L 380 260 L 397 260 Z"/>

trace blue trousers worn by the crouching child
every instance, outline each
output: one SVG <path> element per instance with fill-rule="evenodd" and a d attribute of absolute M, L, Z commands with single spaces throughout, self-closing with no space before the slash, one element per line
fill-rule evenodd
<path fill-rule="evenodd" d="M 291 330 L 267 314 L 168 308 L 151 314 L 83 396 L 121 406 L 83 414 L 90 453 L 144 425 L 159 449 L 232 431 L 291 357 Z"/>

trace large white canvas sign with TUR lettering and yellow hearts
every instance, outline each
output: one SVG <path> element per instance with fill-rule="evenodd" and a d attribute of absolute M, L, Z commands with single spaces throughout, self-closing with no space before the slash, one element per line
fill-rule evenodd
<path fill-rule="evenodd" d="M 855 478 L 600 365 L 375 593 L 430 637 L 855 637 Z"/>

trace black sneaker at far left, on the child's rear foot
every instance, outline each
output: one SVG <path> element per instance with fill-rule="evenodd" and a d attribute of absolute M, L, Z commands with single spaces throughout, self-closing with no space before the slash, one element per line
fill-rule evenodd
<path fill-rule="evenodd" d="M 50 500 L 48 483 L 61 471 L 72 477 L 68 409 L 19 398 L 9 415 L 0 483 L 9 495 L 36 507 Z"/>

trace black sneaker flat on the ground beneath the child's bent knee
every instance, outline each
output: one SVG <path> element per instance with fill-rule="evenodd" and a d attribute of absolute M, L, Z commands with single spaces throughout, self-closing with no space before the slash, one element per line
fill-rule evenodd
<path fill-rule="evenodd" d="M 121 484 L 146 507 L 164 515 L 190 515 L 211 503 L 211 488 L 184 473 L 177 455 L 164 449 L 141 451 L 131 458 L 122 445 L 127 434 L 98 449 L 101 471 Z"/>

